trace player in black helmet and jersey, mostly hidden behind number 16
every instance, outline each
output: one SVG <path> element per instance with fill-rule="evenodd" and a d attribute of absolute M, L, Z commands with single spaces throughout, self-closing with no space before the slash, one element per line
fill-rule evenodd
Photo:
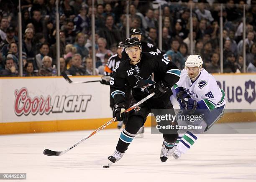
<path fill-rule="evenodd" d="M 152 52 L 157 52 L 157 53 L 162 54 L 162 52 L 159 50 L 159 48 L 155 47 L 151 43 L 146 43 L 146 42 L 141 40 L 142 33 L 141 33 L 140 29 L 138 29 L 138 28 L 131 28 L 131 30 L 130 30 L 130 37 L 137 37 L 138 40 L 141 41 L 141 48 L 142 48 L 143 52 L 150 52 L 150 51 L 152 51 Z M 128 58 L 127 54 L 125 53 L 125 51 L 123 51 L 122 52 L 122 60 L 125 60 L 127 58 Z"/>

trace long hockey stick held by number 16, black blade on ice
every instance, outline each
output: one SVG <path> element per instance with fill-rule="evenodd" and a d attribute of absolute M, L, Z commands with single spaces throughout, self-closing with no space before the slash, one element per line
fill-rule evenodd
<path fill-rule="evenodd" d="M 142 99 L 141 101 L 139 101 L 138 103 L 134 104 L 133 106 L 131 106 L 130 108 L 128 108 L 127 110 L 125 110 L 126 113 L 128 113 L 131 110 L 140 110 L 139 105 L 142 104 L 143 102 L 145 102 L 146 100 L 148 100 L 149 98 L 151 98 L 152 96 L 154 96 L 155 93 L 151 93 L 148 96 L 146 96 L 144 99 Z M 53 150 L 49 150 L 49 149 L 45 149 L 44 150 L 44 154 L 45 155 L 49 155 L 49 156 L 60 156 L 65 154 L 66 152 L 68 152 L 69 150 L 73 149 L 74 147 L 76 147 L 77 145 L 79 145 L 80 143 L 84 142 L 84 140 L 87 140 L 88 138 L 90 138 L 92 135 L 96 134 L 97 132 L 99 132 L 100 130 L 104 129 L 105 127 L 107 127 L 108 125 L 110 125 L 113 121 L 116 121 L 116 117 L 114 117 L 113 119 L 111 119 L 110 121 L 106 122 L 105 124 L 103 124 L 102 126 L 100 126 L 99 128 L 95 129 L 90 135 L 86 136 L 85 138 L 81 139 L 79 142 L 75 143 L 74 145 L 72 145 L 71 147 L 69 147 L 68 149 L 61 151 L 61 152 L 56 152 Z"/>

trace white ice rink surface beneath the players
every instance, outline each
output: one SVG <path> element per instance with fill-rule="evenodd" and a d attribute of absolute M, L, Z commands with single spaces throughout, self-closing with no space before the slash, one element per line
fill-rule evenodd
<path fill-rule="evenodd" d="M 162 136 L 150 128 L 110 168 L 102 165 L 115 151 L 118 129 L 102 130 L 62 156 L 43 154 L 46 148 L 67 149 L 90 132 L 0 136 L 0 172 L 27 173 L 20 180 L 26 182 L 256 181 L 256 134 L 201 135 L 187 154 L 165 163 L 160 161 Z"/>

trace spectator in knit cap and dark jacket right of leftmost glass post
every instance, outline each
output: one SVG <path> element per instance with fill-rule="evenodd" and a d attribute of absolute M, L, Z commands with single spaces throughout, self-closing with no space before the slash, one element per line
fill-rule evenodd
<path fill-rule="evenodd" d="M 25 30 L 25 35 L 24 35 L 24 40 L 23 40 L 23 51 L 26 52 L 27 58 L 28 59 L 34 59 L 35 57 L 35 52 L 36 52 L 36 47 L 32 41 L 33 39 L 33 29 L 32 28 L 27 28 Z"/>

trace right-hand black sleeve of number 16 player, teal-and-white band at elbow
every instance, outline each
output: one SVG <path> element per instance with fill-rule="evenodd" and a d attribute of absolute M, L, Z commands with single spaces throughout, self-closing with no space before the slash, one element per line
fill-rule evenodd
<path fill-rule="evenodd" d="M 175 83 L 177 83 L 177 81 L 179 81 L 180 70 L 172 61 L 160 55 L 159 53 L 156 59 L 159 67 L 159 72 L 163 76 L 162 82 L 164 86 L 171 88 L 172 86 L 174 86 Z"/>

